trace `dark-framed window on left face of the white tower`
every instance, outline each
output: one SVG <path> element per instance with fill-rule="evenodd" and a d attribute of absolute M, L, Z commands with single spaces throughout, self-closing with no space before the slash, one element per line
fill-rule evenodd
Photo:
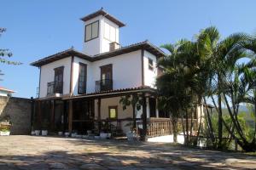
<path fill-rule="evenodd" d="M 85 26 L 85 42 L 90 41 L 99 35 L 99 21 Z"/>

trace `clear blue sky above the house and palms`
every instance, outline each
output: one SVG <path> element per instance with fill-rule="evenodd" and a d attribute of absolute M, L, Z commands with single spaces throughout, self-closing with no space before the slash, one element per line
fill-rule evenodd
<path fill-rule="evenodd" d="M 83 23 L 79 20 L 103 7 L 123 21 L 120 43 L 125 46 L 148 39 L 156 46 L 191 39 L 207 26 L 217 26 L 223 37 L 237 31 L 256 32 L 254 0 L 1 0 L 0 48 L 9 48 L 23 65 L 0 65 L 5 76 L 0 86 L 15 96 L 36 95 L 38 68 L 32 61 L 74 48 L 81 50 Z"/>

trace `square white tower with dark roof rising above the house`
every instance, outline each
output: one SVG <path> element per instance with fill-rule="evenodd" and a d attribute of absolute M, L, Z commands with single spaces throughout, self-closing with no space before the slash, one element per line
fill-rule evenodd
<path fill-rule="evenodd" d="M 119 28 L 125 26 L 101 8 L 95 13 L 84 16 L 85 54 L 96 55 L 119 47 Z"/>

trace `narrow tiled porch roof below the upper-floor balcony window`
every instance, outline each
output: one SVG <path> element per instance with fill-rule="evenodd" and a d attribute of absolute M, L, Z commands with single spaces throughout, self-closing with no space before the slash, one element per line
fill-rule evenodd
<path fill-rule="evenodd" d="M 100 91 L 100 92 L 94 92 L 90 94 L 78 94 L 73 96 L 67 96 L 63 97 L 63 99 L 79 99 L 79 98 L 92 98 L 92 97 L 103 97 L 107 95 L 115 95 L 115 94 L 131 94 L 131 93 L 137 93 L 137 92 L 145 92 L 145 93 L 153 93 L 156 94 L 156 89 L 150 88 L 149 86 L 140 86 L 137 88 L 119 88 L 119 89 L 113 89 L 108 91 Z"/>

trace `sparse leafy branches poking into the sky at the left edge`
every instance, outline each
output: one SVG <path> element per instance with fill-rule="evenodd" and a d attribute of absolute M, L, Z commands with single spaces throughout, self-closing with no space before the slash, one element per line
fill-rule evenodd
<path fill-rule="evenodd" d="M 0 27 L 0 37 L 2 36 L 3 32 L 6 31 L 5 28 Z M 9 51 L 7 48 L 0 48 L 0 62 L 7 65 L 21 65 L 19 61 L 11 61 L 9 60 L 10 57 L 12 57 L 13 54 Z M 2 72 L 0 70 L 0 72 Z M 3 73 L 0 74 L 0 76 L 3 76 Z"/>

